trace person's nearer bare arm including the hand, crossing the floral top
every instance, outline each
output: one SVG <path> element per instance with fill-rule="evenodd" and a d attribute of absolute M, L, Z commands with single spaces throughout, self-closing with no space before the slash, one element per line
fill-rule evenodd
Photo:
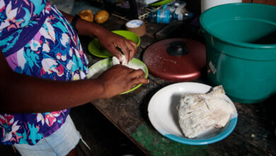
<path fill-rule="evenodd" d="M 59 82 L 13 72 L 0 50 L 0 113 L 58 111 L 148 83 L 142 70 L 116 65 L 98 79 Z"/>

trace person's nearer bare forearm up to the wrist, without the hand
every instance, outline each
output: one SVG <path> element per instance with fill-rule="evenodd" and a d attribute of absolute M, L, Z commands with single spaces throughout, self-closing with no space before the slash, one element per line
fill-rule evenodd
<path fill-rule="evenodd" d="M 97 80 L 57 82 L 17 73 L 9 75 L 1 78 L 0 113 L 57 111 L 103 96 L 103 86 Z"/>

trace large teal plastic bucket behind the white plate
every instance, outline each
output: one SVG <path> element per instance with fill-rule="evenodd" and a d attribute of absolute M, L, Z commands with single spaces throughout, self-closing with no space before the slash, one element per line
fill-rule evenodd
<path fill-rule="evenodd" d="M 276 6 L 224 4 L 200 16 L 207 77 L 233 101 L 253 104 L 276 92 Z"/>

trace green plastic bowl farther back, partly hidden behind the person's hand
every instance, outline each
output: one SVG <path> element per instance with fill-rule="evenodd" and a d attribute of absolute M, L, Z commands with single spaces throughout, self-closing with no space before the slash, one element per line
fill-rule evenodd
<path fill-rule="evenodd" d="M 137 47 L 139 47 L 141 39 L 136 33 L 128 30 L 113 30 L 112 32 L 116 33 L 117 35 L 122 35 L 123 37 L 127 38 L 127 40 L 132 40 L 134 43 L 137 44 Z M 110 53 L 108 50 L 100 45 L 98 38 L 94 38 L 93 40 L 91 40 L 91 42 L 88 44 L 88 51 L 96 57 L 107 58 L 113 56 L 112 53 Z"/>

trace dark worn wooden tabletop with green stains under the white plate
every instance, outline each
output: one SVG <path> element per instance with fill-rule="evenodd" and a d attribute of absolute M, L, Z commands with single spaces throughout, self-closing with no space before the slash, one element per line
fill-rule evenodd
<path fill-rule="evenodd" d="M 109 30 L 124 30 L 127 21 L 111 16 L 102 26 Z M 146 23 L 146 35 L 141 38 L 141 45 L 136 58 L 142 60 L 144 50 L 156 42 L 156 38 L 192 38 L 202 41 L 197 35 L 197 28 L 187 24 L 174 23 L 172 28 L 165 24 Z M 91 55 L 87 45 L 92 38 L 81 36 L 89 65 L 102 58 Z M 91 101 L 103 115 L 135 143 L 146 155 L 276 155 L 275 138 L 275 97 L 262 104 L 238 104 L 238 123 L 234 131 L 224 140 L 210 145 L 184 145 L 163 137 L 151 125 L 147 107 L 151 97 L 166 87 L 167 82 L 149 74 L 149 84 L 111 99 Z M 203 75 L 193 82 L 208 84 Z"/>

